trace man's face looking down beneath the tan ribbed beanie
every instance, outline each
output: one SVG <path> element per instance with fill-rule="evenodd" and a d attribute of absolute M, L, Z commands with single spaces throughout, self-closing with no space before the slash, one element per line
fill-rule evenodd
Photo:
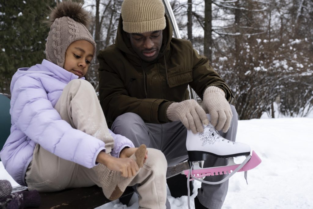
<path fill-rule="evenodd" d="M 156 60 L 162 46 L 162 30 L 129 34 L 131 46 L 136 54 L 146 62 Z"/>

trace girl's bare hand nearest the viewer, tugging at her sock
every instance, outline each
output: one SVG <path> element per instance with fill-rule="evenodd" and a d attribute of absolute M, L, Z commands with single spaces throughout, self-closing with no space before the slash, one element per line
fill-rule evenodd
<path fill-rule="evenodd" d="M 123 177 L 135 176 L 139 167 L 135 160 L 127 158 L 115 158 L 105 152 L 100 152 L 97 156 L 96 162 L 102 163 L 110 170 L 120 171 Z"/>

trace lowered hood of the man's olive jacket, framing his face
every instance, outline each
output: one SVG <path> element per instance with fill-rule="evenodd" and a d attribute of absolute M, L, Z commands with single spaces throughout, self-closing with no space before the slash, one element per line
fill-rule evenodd
<path fill-rule="evenodd" d="M 156 60 L 161 59 L 164 56 L 164 54 L 170 50 L 170 43 L 171 43 L 172 35 L 173 35 L 173 29 L 172 29 L 170 20 L 166 14 L 164 16 L 166 19 L 166 27 L 162 32 L 162 35 L 163 35 L 162 46 L 159 52 L 159 56 Z M 127 37 L 127 33 L 123 30 L 123 19 L 121 15 L 120 15 L 119 24 L 117 27 L 115 46 L 118 47 L 124 53 L 126 53 L 126 56 L 129 58 L 129 60 L 131 60 L 133 64 L 141 65 L 142 60 L 133 50 L 131 46 L 131 42 L 129 38 Z"/>

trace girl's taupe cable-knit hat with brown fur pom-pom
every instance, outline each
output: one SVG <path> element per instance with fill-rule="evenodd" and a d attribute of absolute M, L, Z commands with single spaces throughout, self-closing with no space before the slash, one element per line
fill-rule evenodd
<path fill-rule="evenodd" d="M 46 58 L 48 61 L 63 68 L 65 51 L 71 43 L 77 40 L 87 40 L 96 43 L 86 28 L 90 22 L 89 14 L 82 8 L 82 3 L 62 1 L 51 9 L 49 15 L 50 32 L 46 42 Z"/>

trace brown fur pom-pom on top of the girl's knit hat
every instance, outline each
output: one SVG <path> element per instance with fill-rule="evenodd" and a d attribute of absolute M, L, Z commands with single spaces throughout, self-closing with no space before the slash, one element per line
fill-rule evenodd
<path fill-rule="evenodd" d="M 81 2 L 73 2 L 71 0 L 57 2 L 57 5 L 54 8 L 50 8 L 51 12 L 49 14 L 49 19 L 47 20 L 48 26 L 50 27 L 57 18 L 69 17 L 88 28 L 91 18 L 89 13 L 82 7 L 83 3 Z"/>

